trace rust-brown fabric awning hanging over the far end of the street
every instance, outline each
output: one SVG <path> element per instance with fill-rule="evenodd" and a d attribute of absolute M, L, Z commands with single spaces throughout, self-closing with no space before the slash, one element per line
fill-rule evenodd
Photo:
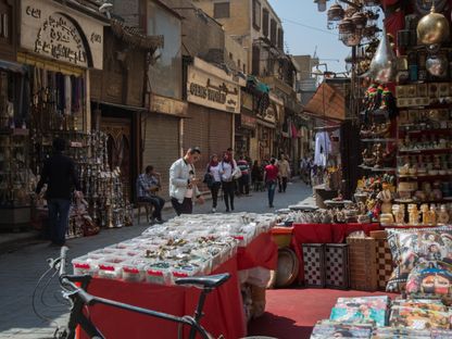
<path fill-rule="evenodd" d="M 305 114 L 343 121 L 346 118 L 346 98 L 337 87 L 323 83 L 304 108 Z"/>

